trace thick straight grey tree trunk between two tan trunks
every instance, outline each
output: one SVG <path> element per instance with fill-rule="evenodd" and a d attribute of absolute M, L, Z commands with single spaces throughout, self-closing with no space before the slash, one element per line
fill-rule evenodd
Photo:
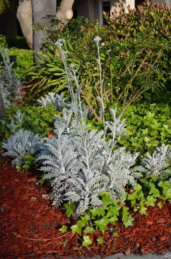
<path fill-rule="evenodd" d="M 56 0 L 32 0 L 32 19 L 33 24 L 35 20 L 38 21 L 38 18 L 43 18 L 46 15 L 56 15 Z M 50 29 L 50 19 L 42 19 L 41 23 L 45 23 L 47 29 Z M 53 28 L 54 27 L 54 28 Z M 51 30 L 55 30 L 53 26 Z M 40 51 L 39 46 L 42 45 L 42 38 L 46 41 L 46 38 L 43 35 L 42 31 L 33 32 L 33 51 Z M 36 53 L 33 53 L 33 62 L 38 62 Z"/>

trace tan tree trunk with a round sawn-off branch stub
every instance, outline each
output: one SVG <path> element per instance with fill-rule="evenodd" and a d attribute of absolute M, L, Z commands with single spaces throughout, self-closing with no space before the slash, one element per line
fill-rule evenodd
<path fill-rule="evenodd" d="M 84 1 L 84 0 L 83 0 Z M 61 20 L 65 25 L 69 19 L 73 17 L 72 5 L 74 0 L 62 0 L 60 7 L 56 13 L 56 16 Z"/>

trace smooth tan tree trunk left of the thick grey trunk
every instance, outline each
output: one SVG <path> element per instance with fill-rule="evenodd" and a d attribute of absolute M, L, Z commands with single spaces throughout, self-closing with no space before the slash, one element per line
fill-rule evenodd
<path fill-rule="evenodd" d="M 17 19 L 30 49 L 33 49 L 32 1 L 19 0 Z"/>

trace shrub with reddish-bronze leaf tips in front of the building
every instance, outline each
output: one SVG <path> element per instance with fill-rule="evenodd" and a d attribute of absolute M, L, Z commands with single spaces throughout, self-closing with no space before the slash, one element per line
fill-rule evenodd
<path fill-rule="evenodd" d="M 145 0 L 138 8 L 128 8 L 125 11 L 123 4 L 119 4 L 119 13 L 115 11 L 111 17 L 107 12 L 104 16 L 108 21 L 108 26 L 116 30 L 120 37 L 136 37 L 137 32 L 148 33 L 154 38 L 171 39 L 171 12 L 167 4 L 154 3 Z"/>

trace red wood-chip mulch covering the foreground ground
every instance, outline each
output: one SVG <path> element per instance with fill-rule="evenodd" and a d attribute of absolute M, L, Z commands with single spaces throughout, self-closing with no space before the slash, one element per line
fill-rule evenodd
<path fill-rule="evenodd" d="M 65 215 L 61 208 L 52 209 L 51 201 L 42 199 L 42 194 L 51 190 L 46 185 L 38 189 L 34 183 L 40 172 L 17 172 L 10 163 L 10 159 L 0 160 L 0 207 L 5 211 L 0 214 L 0 256 L 1 258 L 42 258 L 43 256 L 54 257 L 78 257 L 80 254 L 93 257 L 87 248 L 82 247 L 81 241 L 76 234 L 72 234 L 71 225 L 76 220 Z M 31 183 L 32 182 L 32 183 Z M 5 191 L 4 191 L 4 189 Z M 40 192 L 41 190 L 41 192 Z M 34 196 L 35 200 L 30 199 Z M 48 204 L 49 207 L 45 207 Z M 47 205 L 46 205 L 47 206 Z M 113 231 L 108 226 L 107 231 L 96 231 L 89 234 L 92 244 L 89 247 L 96 254 L 110 255 L 121 253 L 130 245 L 131 253 L 144 254 L 148 252 L 161 253 L 170 250 L 171 243 L 171 208 L 169 203 L 159 207 L 148 207 L 147 217 L 130 211 L 135 217 L 133 225 L 125 228 L 122 221 L 118 220 L 118 238 L 113 237 Z M 57 229 L 62 225 L 67 226 L 67 234 L 62 234 Z M 24 237 L 19 238 L 15 234 Z M 97 244 L 97 238 L 103 236 L 105 243 Z M 151 240 L 155 238 L 155 240 Z M 30 240 L 34 239 L 34 240 Z M 44 239 L 50 239 L 44 241 Z M 66 249 L 59 243 L 67 241 Z M 111 249 L 116 242 L 115 250 Z M 138 247 L 138 244 L 139 247 Z M 141 250 L 140 250 L 141 249 Z M 143 250 L 142 250 L 143 249 Z M 142 252 L 141 252 L 142 251 Z"/>

